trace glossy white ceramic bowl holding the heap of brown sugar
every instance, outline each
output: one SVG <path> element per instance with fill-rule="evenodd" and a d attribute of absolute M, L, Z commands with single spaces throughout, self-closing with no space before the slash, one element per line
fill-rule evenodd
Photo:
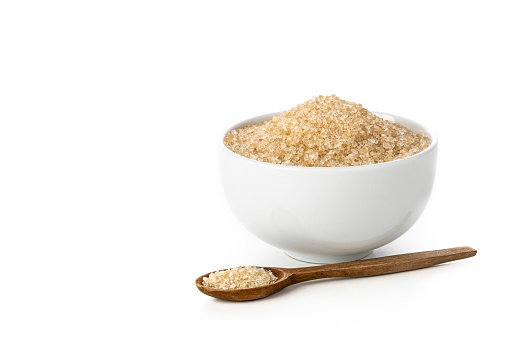
<path fill-rule="evenodd" d="M 228 131 L 277 114 L 240 122 Z M 376 114 L 427 134 L 431 145 L 411 157 L 381 164 L 297 167 L 240 156 L 221 139 L 220 172 L 235 216 L 261 240 L 312 263 L 357 260 L 400 237 L 429 200 L 437 137 L 409 119 Z"/>

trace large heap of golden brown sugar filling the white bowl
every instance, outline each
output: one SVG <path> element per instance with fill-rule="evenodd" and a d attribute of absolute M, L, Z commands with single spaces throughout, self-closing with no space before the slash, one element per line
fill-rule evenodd
<path fill-rule="evenodd" d="M 223 140 L 244 157 L 272 164 L 344 167 L 382 163 L 425 150 L 430 138 L 336 95 L 319 96 Z"/>

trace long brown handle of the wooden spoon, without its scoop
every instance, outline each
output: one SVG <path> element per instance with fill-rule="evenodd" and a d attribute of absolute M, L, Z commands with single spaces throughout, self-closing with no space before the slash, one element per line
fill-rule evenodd
<path fill-rule="evenodd" d="M 292 284 L 322 278 L 367 277 L 430 267 L 453 260 L 473 257 L 476 253 L 477 251 L 471 247 L 454 247 L 444 250 L 400 254 L 340 264 L 292 268 L 287 269 L 287 272 L 291 274 Z"/>

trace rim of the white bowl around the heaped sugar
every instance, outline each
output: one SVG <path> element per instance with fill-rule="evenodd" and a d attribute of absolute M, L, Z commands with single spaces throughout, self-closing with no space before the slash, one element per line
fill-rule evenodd
<path fill-rule="evenodd" d="M 274 113 L 267 113 L 267 114 L 257 115 L 257 116 L 251 117 L 249 119 L 242 120 L 240 122 L 237 122 L 236 124 L 231 125 L 225 132 L 223 132 L 221 134 L 221 139 L 219 140 L 219 144 L 220 144 L 219 146 L 220 146 L 221 151 L 223 151 L 223 152 L 225 151 L 226 153 L 228 153 L 228 154 L 238 158 L 241 161 L 248 161 L 248 162 L 252 162 L 253 164 L 259 165 L 259 166 L 267 166 L 267 167 L 272 167 L 274 169 L 291 170 L 291 171 L 351 171 L 351 170 L 372 169 L 372 168 L 375 168 L 375 167 L 376 168 L 381 168 L 381 167 L 387 167 L 387 166 L 394 166 L 394 165 L 400 164 L 402 162 L 408 162 L 408 161 L 412 161 L 412 159 L 424 157 L 428 153 L 433 152 L 437 148 L 437 146 L 438 146 L 437 135 L 435 134 L 435 132 L 430 130 L 427 126 L 425 126 L 425 125 L 423 125 L 423 124 L 421 124 L 421 123 L 419 123 L 419 122 L 417 122 L 415 120 L 412 120 L 412 119 L 409 119 L 409 118 L 405 118 L 403 116 L 396 115 L 396 114 L 382 113 L 382 112 L 378 112 L 378 111 L 369 111 L 369 112 L 373 113 L 373 114 L 376 114 L 377 116 L 381 116 L 382 118 L 384 116 L 392 117 L 392 118 L 394 118 L 396 120 L 396 122 L 398 122 L 398 120 L 406 120 L 406 121 L 409 121 L 409 122 L 412 122 L 412 123 L 418 125 L 419 128 L 423 130 L 423 133 L 425 133 L 426 135 L 428 135 L 431 138 L 431 144 L 425 150 L 423 150 L 423 151 L 421 151 L 421 152 L 419 152 L 417 154 L 411 155 L 409 157 L 403 158 L 403 159 L 396 159 L 396 160 L 381 162 L 381 163 L 377 163 L 377 164 L 368 164 L 368 165 L 359 165 L 359 166 L 335 166 L 335 167 L 325 167 L 325 166 L 323 166 L 323 167 L 311 167 L 311 166 L 293 166 L 293 165 L 273 164 L 273 163 L 270 163 L 270 162 L 254 160 L 254 159 L 245 157 L 243 155 L 237 154 L 237 153 L 233 152 L 232 150 L 230 150 L 228 147 L 226 147 L 226 145 L 224 144 L 224 137 L 231 130 L 233 130 L 235 128 L 241 128 L 243 126 L 246 126 L 247 124 L 249 124 L 253 120 L 256 121 L 256 120 L 259 120 L 259 119 L 262 119 L 262 118 L 266 118 L 266 119 L 260 120 L 257 123 L 268 121 L 272 117 L 283 113 L 283 111 L 281 111 L 281 112 L 274 112 Z M 405 128 L 408 128 L 407 126 L 405 126 L 405 125 L 403 125 L 401 123 L 400 123 L 400 125 L 402 125 Z"/>

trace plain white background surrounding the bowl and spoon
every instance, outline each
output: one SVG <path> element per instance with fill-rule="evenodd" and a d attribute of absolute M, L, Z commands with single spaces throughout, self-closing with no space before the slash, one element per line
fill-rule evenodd
<path fill-rule="evenodd" d="M 2 1 L 0 337 L 504 336 L 507 13 L 493 1 Z M 253 302 L 201 294 L 195 278 L 215 269 L 302 266 L 231 214 L 220 135 L 333 93 L 440 140 L 425 213 L 372 257 L 478 255 Z"/>

